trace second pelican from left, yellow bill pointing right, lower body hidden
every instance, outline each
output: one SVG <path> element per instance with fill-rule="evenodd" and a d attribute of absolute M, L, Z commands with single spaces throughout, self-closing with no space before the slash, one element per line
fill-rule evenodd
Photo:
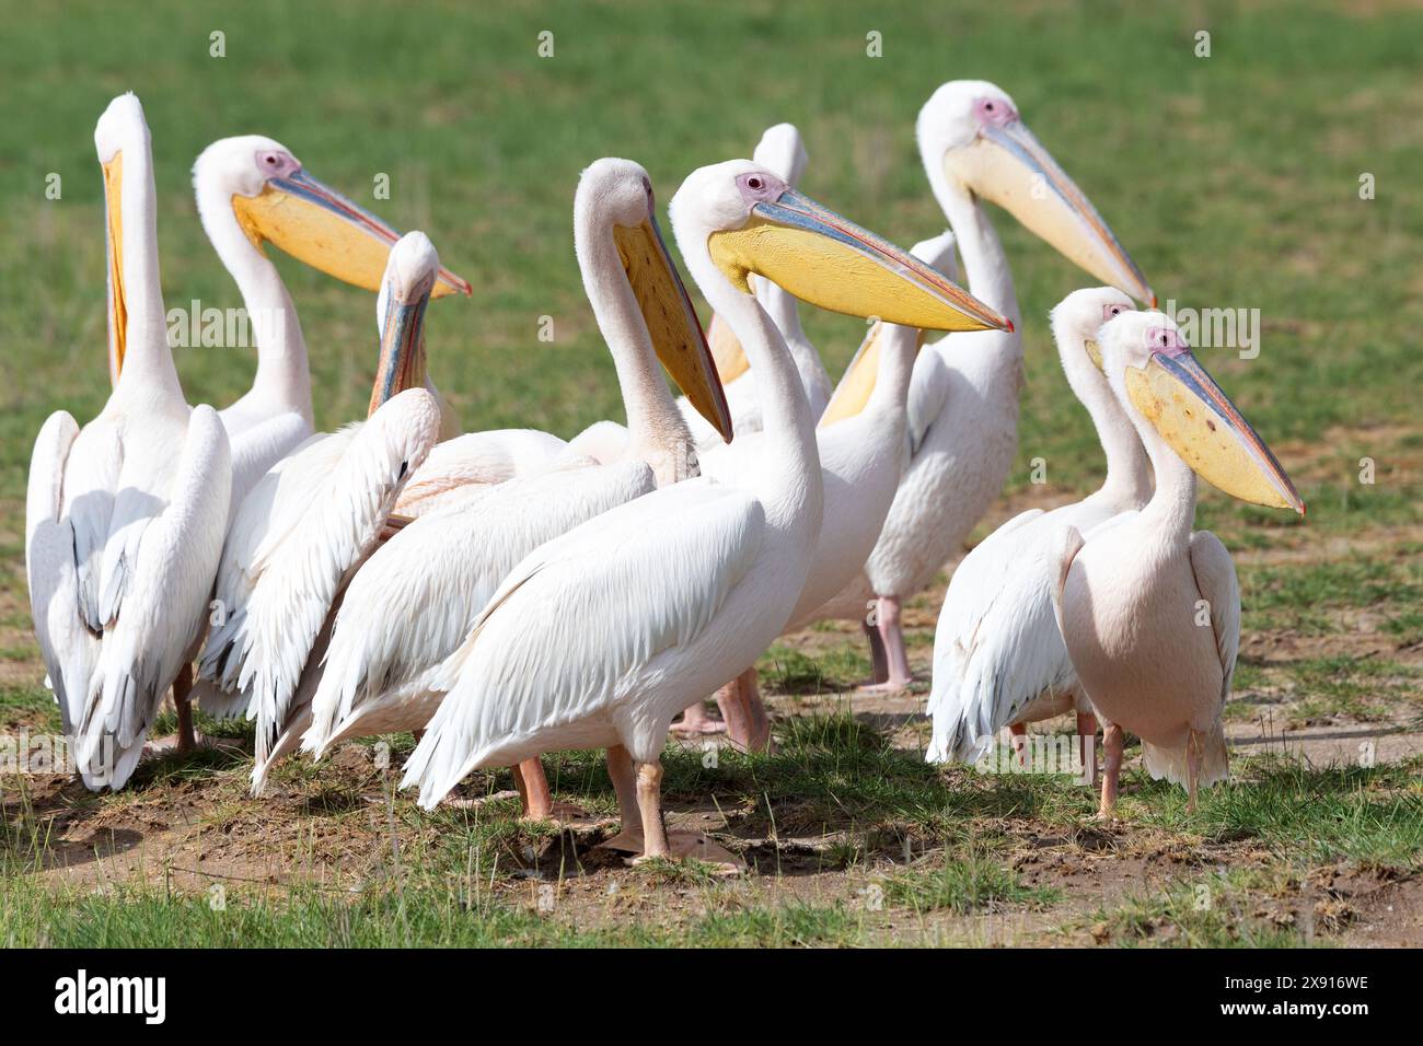
<path fill-rule="evenodd" d="M 202 228 L 226 266 L 252 323 L 252 389 L 221 411 L 232 441 L 233 501 L 312 435 L 312 377 L 296 306 L 263 245 L 366 290 L 379 290 L 400 233 L 307 174 L 277 141 L 240 135 L 212 142 L 194 164 Z M 434 297 L 470 285 L 441 269 Z"/>

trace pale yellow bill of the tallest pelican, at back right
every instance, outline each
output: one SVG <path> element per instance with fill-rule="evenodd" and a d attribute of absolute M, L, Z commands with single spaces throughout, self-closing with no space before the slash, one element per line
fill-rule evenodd
<path fill-rule="evenodd" d="M 972 145 L 945 154 L 943 165 L 949 178 L 1002 206 L 1067 260 L 1155 307 L 1136 262 L 1023 121 L 985 128 Z"/>

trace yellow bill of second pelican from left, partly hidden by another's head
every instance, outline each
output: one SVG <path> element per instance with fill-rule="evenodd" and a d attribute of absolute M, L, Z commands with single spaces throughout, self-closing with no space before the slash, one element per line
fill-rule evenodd
<path fill-rule="evenodd" d="M 400 233 L 305 171 L 270 179 L 256 196 L 233 196 L 232 211 L 258 250 L 263 242 L 366 290 L 380 290 L 390 248 Z M 468 280 L 440 269 L 434 297 L 471 292 Z"/>

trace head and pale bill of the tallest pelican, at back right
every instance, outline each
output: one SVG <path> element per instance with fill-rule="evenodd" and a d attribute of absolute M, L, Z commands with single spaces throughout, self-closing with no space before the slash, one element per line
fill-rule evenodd
<path fill-rule="evenodd" d="M 1070 262 L 1155 306 L 1141 270 L 1000 87 L 943 84 L 919 110 L 918 138 L 936 192 L 959 186 L 998 204 Z"/>

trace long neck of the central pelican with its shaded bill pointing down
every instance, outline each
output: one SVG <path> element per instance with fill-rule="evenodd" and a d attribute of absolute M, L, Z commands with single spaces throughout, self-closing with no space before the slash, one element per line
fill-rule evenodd
<path fill-rule="evenodd" d="M 583 289 L 598 329 L 612 353 L 618 387 L 628 411 L 628 458 L 646 461 L 657 484 L 686 478 L 692 461 L 692 431 L 667 390 L 638 299 L 628 283 L 612 222 L 585 206 L 573 209 L 573 243 Z"/>

